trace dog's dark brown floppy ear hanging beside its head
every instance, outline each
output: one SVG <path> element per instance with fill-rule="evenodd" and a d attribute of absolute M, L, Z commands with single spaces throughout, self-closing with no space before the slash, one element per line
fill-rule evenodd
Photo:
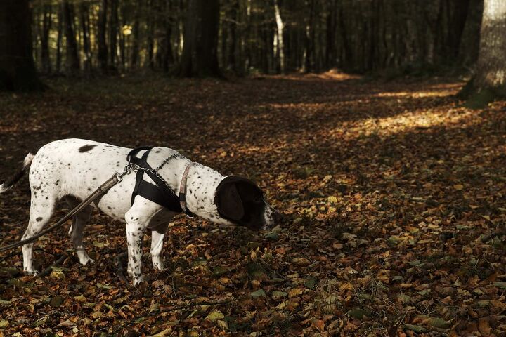
<path fill-rule="evenodd" d="M 219 213 L 224 218 L 235 221 L 242 219 L 245 215 L 244 205 L 236 186 L 238 181 L 240 178 L 235 176 L 223 178 L 214 194 L 214 204 L 218 207 Z"/>

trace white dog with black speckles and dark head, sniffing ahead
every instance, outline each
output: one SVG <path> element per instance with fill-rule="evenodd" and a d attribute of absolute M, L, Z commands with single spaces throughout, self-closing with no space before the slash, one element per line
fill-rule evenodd
<path fill-rule="evenodd" d="M 129 164 L 126 156 L 131 149 L 98 143 L 91 140 L 56 140 L 41 147 L 37 154 L 27 154 L 22 168 L 11 179 L 0 185 L 0 193 L 13 187 L 25 171 L 30 170 L 30 220 L 22 239 L 41 232 L 59 201 L 74 208 L 115 172 L 121 173 Z M 141 153 L 139 153 L 141 154 Z M 174 154 L 176 156 L 174 157 Z M 237 176 L 222 176 L 207 166 L 192 161 L 168 147 L 153 147 L 148 162 L 158 166 L 167 157 L 174 159 L 164 164 L 158 173 L 172 190 L 179 190 L 184 171 L 186 176 L 186 207 L 192 213 L 213 223 L 241 225 L 252 230 L 266 229 L 276 223 L 281 214 L 265 200 L 263 192 L 251 180 Z M 150 180 L 146 175 L 144 180 Z M 162 246 L 169 220 L 176 212 L 169 211 L 153 201 L 136 195 L 136 174 L 127 174 L 122 181 L 74 216 L 69 230 L 79 262 L 93 263 L 83 245 L 83 231 L 93 208 L 126 224 L 128 243 L 128 272 L 134 285 L 143 282 L 141 256 L 143 234 L 151 230 L 150 255 L 153 267 L 163 269 Z M 33 244 L 22 246 L 23 270 L 37 274 L 32 264 Z"/>

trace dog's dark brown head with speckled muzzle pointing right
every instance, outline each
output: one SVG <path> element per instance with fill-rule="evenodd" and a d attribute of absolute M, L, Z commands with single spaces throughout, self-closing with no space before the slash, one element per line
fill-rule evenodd
<path fill-rule="evenodd" d="M 252 180 L 227 176 L 214 194 L 214 204 L 221 218 L 235 225 L 261 230 L 271 227 L 281 214 L 264 199 L 264 192 Z"/>

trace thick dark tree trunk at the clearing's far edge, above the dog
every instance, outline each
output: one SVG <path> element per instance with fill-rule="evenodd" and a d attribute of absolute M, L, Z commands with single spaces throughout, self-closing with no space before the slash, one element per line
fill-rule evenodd
<path fill-rule="evenodd" d="M 219 0 L 189 0 L 179 76 L 221 77 L 218 65 Z"/>

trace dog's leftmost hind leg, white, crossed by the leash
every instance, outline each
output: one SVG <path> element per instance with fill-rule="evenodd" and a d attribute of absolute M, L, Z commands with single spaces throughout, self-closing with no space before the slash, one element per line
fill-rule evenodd
<path fill-rule="evenodd" d="M 25 234 L 21 237 L 22 240 L 29 239 L 34 235 L 38 234 L 51 220 L 53 215 L 53 209 L 56 204 L 56 199 L 44 199 L 37 197 L 32 189 L 32 203 L 30 205 L 30 220 L 28 221 L 28 227 L 25 230 Z M 39 194 L 40 195 L 40 194 Z M 30 275 L 37 274 L 37 270 L 34 269 L 32 263 L 32 252 L 33 243 L 24 244 L 22 246 L 23 253 L 23 270 Z"/>

